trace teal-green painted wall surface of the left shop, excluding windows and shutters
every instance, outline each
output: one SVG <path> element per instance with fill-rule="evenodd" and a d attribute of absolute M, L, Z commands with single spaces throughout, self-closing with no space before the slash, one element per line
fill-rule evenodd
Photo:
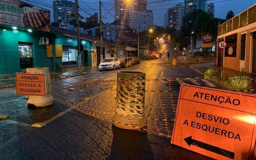
<path fill-rule="evenodd" d="M 39 38 L 49 38 L 49 44 L 53 45 L 53 58 L 46 57 L 46 46 L 39 44 Z M 56 62 L 62 61 L 61 57 L 56 57 L 55 44 L 76 47 L 76 37 L 68 37 L 61 34 L 50 32 L 41 32 L 35 30 L 29 33 L 24 28 L 22 30 L 12 30 L 0 28 L 0 74 L 10 74 L 20 72 L 20 59 L 18 43 L 31 43 L 33 47 L 34 67 L 49 67 L 51 71 L 56 72 Z M 81 39 L 84 49 L 91 50 L 89 40 Z M 91 58 L 88 58 L 89 63 Z M 84 62 L 84 52 L 82 52 L 82 64 Z M 77 68 L 69 66 L 67 68 Z"/>

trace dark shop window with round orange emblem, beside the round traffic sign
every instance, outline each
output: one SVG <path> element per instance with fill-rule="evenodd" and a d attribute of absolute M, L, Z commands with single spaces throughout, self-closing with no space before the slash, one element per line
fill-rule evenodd
<path fill-rule="evenodd" d="M 237 34 L 225 37 L 227 47 L 225 48 L 225 57 L 236 57 Z"/>

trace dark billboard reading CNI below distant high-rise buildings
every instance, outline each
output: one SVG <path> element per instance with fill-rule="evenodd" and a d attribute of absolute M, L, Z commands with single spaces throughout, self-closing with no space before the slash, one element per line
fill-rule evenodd
<path fill-rule="evenodd" d="M 129 41 L 136 39 L 136 29 L 116 29 L 116 39 Z"/>

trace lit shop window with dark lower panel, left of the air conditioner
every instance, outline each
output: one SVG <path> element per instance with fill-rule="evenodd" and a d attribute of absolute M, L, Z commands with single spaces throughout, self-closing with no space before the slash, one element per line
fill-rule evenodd
<path fill-rule="evenodd" d="M 18 43 L 19 57 L 20 57 L 20 69 L 33 67 L 33 48 L 32 44 Z"/>

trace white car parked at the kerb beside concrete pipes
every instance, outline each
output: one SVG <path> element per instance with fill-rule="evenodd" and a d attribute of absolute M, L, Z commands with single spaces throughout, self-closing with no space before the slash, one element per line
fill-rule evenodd
<path fill-rule="evenodd" d="M 99 71 L 105 70 L 105 69 L 113 69 L 115 70 L 117 68 L 121 68 L 120 60 L 117 58 L 105 58 L 102 60 L 102 62 L 99 65 Z"/>

